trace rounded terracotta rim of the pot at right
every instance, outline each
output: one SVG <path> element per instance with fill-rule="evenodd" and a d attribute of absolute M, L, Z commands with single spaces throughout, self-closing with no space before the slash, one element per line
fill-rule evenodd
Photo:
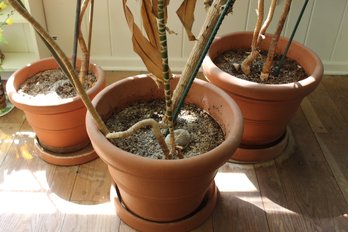
<path fill-rule="evenodd" d="M 206 55 L 206 57 L 204 58 L 203 61 L 203 72 L 207 75 L 206 78 L 209 81 L 212 81 L 214 84 L 217 84 L 219 87 L 222 87 L 222 85 L 224 86 L 224 88 L 230 88 L 231 90 L 233 90 L 233 92 L 240 94 L 240 95 L 245 95 L 245 91 L 248 91 L 248 96 L 249 97 L 254 97 L 255 94 L 260 94 L 260 93 L 264 93 L 265 98 L 269 98 L 267 96 L 267 92 L 269 92 L 270 90 L 272 91 L 278 91 L 279 93 L 284 94 L 285 91 L 285 95 L 290 94 L 293 91 L 306 91 L 306 92 L 310 92 L 311 90 L 313 90 L 320 82 L 320 80 L 322 79 L 322 75 L 323 75 L 323 64 L 319 58 L 319 56 L 312 51 L 310 48 L 305 47 L 304 45 L 302 45 L 301 43 L 297 42 L 297 41 L 292 41 L 292 44 L 290 46 L 289 49 L 289 53 L 288 53 L 288 57 L 295 59 L 294 57 L 292 57 L 292 51 L 294 51 L 295 49 L 300 49 L 301 50 L 301 54 L 308 54 L 309 59 L 311 62 L 313 62 L 314 67 L 311 68 L 310 70 L 310 75 L 308 75 L 307 78 L 302 79 L 300 81 L 297 82 L 292 82 L 292 83 L 285 83 L 285 84 L 263 84 L 263 83 L 256 83 L 256 82 L 252 82 L 252 81 L 248 81 L 248 80 L 243 80 L 240 79 L 238 77 L 235 77 L 233 75 L 230 75 L 224 71 L 222 71 L 220 68 L 218 68 L 214 62 L 213 59 L 218 56 L 219 54 L 221 54 L 223 51 L 221 48 L 217 48 L 218 46 L 221 46 L 222 43 L 225 43 L 226 41 L 233 41 L 233 38 L 235 37 L 250 37 L 252 36 L 253 32 L 234 32 L 234 33 L 229 33 L 226 35 L 223 35 L 221 37 L 216 37 Z M 266 34 L 266 38 L 270 39 L 270 34 Z M 281 50 L 284 50 L 284 44 L 287 44 L 288 39 L 285 37 L 280 37 L 279 39 L 279 43 L 278 43 L 278 49 L 279 50 L 279 45 L 282 46 Z M 229 44 L 232 44 L 231 42 Z M 228 47 L 229 45 L 226 45 L 225 47 Z M 219 51 L 216 51 L 217 49 L 219 49 Z M 228 47 L 226 50 L 231 49 L 230 47 Z M 290 55 L 289 55 L 290 54 Z M 297 62 L 298 60 L 295 59 Z M 298 62 L 301 66 L 304 66 L 304 62 Z M 308 73 L 309 70 L 306 70 L 306 73 Z M 214 77 L 212 78 L 211 75 L 214 75 Z M 214 80 L 211 80 L 214 79 Z M 217 81 L 215 83 L 215 81 Z M 240 89 L 237 89 L 238 87 L 231 87 L 231 85 L 233 86 L 238 86 Z M 227 86 L 227 87 L 226 87 Z M 305 90 L 304 90 L 305 89 Z M 259 96 L 258 96 L 259 98 Z"/>

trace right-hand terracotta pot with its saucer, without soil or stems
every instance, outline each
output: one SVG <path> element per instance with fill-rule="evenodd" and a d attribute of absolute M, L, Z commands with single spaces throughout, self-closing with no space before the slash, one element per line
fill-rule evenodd
<path fill-rule="evenodd" d="M 319 84 L 323 65 L 319 57 L 300 43 L 292 42 L 288 57 L 297 61 L 308 77 L 288 84 L 259 84 L 232 76 L 219 69 L 215 57 L 232 49 L 250 49 L 252 32 L 232 33 L 213 41 L 202 67 L 211 83 L 224 89 L 238 104 L 244 117 L 242 144 L 233 160 L 258 162 L 272 159 L 286 147 L 286 127 L 302 99 Z M 271 37 L 262 40 L 266 50 Z M 277 53 L 283 53 L 288 40 L 280 38 Z"/>

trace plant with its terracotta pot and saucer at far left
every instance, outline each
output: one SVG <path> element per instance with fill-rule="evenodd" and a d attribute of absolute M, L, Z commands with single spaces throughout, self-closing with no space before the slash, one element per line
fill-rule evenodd
<path fill-rule="evenodd" d="M 87 75 L 92 74 L 95 76 L 95 82 L 92 84 L 92 87 L 87 90 L 87 94 L 84 97 L 93 98 L 104 87 L 105 78 L 103 70 L 99 66 L 90 63 L 89 51 L 91 37 L 89 36 L 86 43 L 79 27 L 84 13 L 86 9 L 88 9 L 89 2 L 90 1 L 84 2 L 81 6 L 81 14 L 77 14 L 76 16 L 77 33 L 75 33 L 75 38 L 76 41 L 77 39 L 79 40 L 82 58 L 77 59 L 75 55 L 68 60 L 61 50 L 56 52 L 49 46 L 53 57 L 33 62 L 17 70 L 11 75 L 6 85 L 11 102 L 13 102 L 17 108 L 24 111 L 29 124 L 36 133 L 37 139 L 35 141 L 35 147 L 39 156 L 48 163 L 56 165 L 82 164 L 98 157 L 90 145 L 90 140 L 85 128 L 84 118 L 86 108 L 79 96 L 69 95 L 68 97 L 58 98 L 55 97 L 54 94 L 52 98 L 48 98 L 46 95 L 41 98 L 33 98 L 28 97 L 27 94 L 20 93 L 19 89 L 22 86 L 23 91 L 32 90 L 32 85 L 30 85 L 31 82 L 25 84 L 28 82 L 27 80 L 29 80 L 29 78 L 34 75 L 41 75 L 44 71 L 58 70 L 59 67 L 64 73 L 63 75 L 68 79 L 73 80 L 75 78 L 73 86 L 76 87 L 76 92 L 83 91 L 81 83 L 84 82 L 84 79 L 87 79 Z M 30 15 L 20 1 L 10 0 L 9 3 L 32 24 L 37 25 L 37 27 L 39 27 L 38 30 L 44 31 L 33 18 L 29 17 Z M 93 7 L 93 1 L 90 6 Z M 92 23 L 92 20 L 90 20 L 90 23 Z M 89 34 L 91 34 L 91 30 Z M 52 38 L 50 39 L 52 40 Z M 47 40 L 44 41 L 48 44 Z M 77 46 L 74 47 L 77 48 Z M 76 54 L 76 49 L 74 54 Z M 65 63 L 66 66 L 64 66 L 63 63 Z M 79 69 L 79 77 L 77 77 L 77 69 Z M 56 75 L 61 74 L 58 72 Z M 50 74 L 48 74 L 48 76 L 50 76 Z M 51 80 L 51 78 L 47 79 Z M 45 77 L 45 80 L 42 82 L 46 83 L 47 79 Z M 64 84 L 66 81 L 62 81 L 60 76 L 57 77 L 57 80 L 63 82 L 63 85 L 58 85 L 56 90 L 65 88 L 68 90 L 71 89 L 71 86 Z M 50 84 L 51 82 L 48 83 L 47 85 L 53 85 Z M 46 90 L 45 86 L 43 88 Z"/>

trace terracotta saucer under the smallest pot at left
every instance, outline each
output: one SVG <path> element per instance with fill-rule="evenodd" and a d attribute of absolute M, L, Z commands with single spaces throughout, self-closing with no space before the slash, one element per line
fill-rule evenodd
<path fill-rule="evenodd" d="M 58 166 L 73 166 L 87 163 L 98 158 L 91 144 L 70 153 L 56 153 L 43 148 L 38 139 L 34 140 L 35 150 L 41 159 Z"/>

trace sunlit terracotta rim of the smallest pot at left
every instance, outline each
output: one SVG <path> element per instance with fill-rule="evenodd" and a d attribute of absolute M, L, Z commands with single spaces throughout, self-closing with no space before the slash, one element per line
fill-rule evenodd
<path fill-rule="evenodd" d="M 67 104 L 75 104 L 78 101 L 81 101 L 81 98 L 79 95 L 76 95 L 74 97 L 70 97 L 70 98 L 64 98 L 64 99 L 56 99 L 55 101 L 45 101 L 42 102 L 40 100 L 36 100 L 34 98 L 29 98 L 27 96 L 23 96 L 22 94 L 18 93 L 18 88 L 19 86 L 15 86 L 14 85 L 14 81 L 17 75 L 21 74 L 21 73 L 25 73 L 28 72 L 30 70 L 31 67 L 33 66 L 42 66 L 42 63 L 47 63 L 49 64 L 49 69 L 55 69 L 58 68 L 58 63 L 56 62 L 56 60 L 53 57 L 48 57 L 48 58 L 43 58 L 40 60 L 37 60 L 35 62 L 32 62 L 30 64 L 27 64 L 26 66 L 18 69 L 16 72 L 14 72 L 10 78 L 7 81 L 6 84 L 6 92 L 8 94 L 8 96 L 10 97 L 11 101 L 15 103 L 15 105 L 18 108 L 23 108 L 25 106 L 30 106 L 30 107 L 34 107 L 34 108 L 41 108 L 41 107 L 60 107 L 60 106 L 64 106 Z M 80 63 L 80 61 L 78 60 L 78 64 Z M 95 93 L 98 89 L 101 89 L 102 86 L 105 83 L 105 75 L 104 75 L 104 71 L 102 70 L 102 68 L 96 64 L 90 63 L 90 68 L 93 70 L 93 73 L 95 74 L 97 80 L 94 83 L 94 85 L 89 88 L 86 93 L 87 95 L 91 95 L 93 93 Z M 45 71 L 48 69 L 44 69 L 44 68 L 40 68 L 40 70 L 38 72 L 41 71 Z M 36 73 L 38 73 L 36 72 Z M 32 74 L 35 75 L 35 74 Z M 21 85 L 22 83 L 20 83 Z"/>

